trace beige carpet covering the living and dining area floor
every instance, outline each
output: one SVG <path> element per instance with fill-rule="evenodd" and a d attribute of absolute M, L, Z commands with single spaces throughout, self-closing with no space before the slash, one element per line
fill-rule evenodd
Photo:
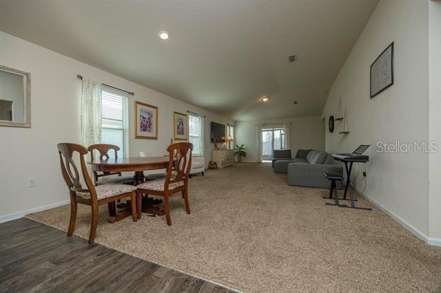
<path fill-rule="evenodd" d="M 107 224 L 103 206 L 96 242 L 244 292 L 441 292 L 441 248 L 380 210 L 325 206 L 323 195 L 267 164 L 236 164 L 194 176 L 192 215 L 175 196 L 170 227 L 145 216 Z M 87 238 L 80 206 L 75 234 Z M 66 230 L 69 207 L 29 217 Z"/>

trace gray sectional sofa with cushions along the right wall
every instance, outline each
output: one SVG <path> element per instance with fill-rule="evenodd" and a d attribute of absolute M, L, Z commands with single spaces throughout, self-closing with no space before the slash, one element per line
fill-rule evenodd
<path fill-rule="evenodd" d="M 289 151 L 291 153 L 291 151 Z M 333 164 L 333 158 L 325 151 L 299 150 L 294 159 L 274 158 L 275 173 L 287 173 L 290 186 L 328 188 L 329 180 L 323 173 L 331 172 L 343 175 L 343 167 Z M 341 182 L 336 182 L 341 189 Z"/>

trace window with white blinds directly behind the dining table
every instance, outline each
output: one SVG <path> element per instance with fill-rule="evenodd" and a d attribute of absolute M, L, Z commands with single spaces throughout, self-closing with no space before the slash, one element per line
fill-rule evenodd
<path fill-rule="evenodd" d="M 129 98 L 103 87 L 101 91 L 101 143 L 115 144 L 119 157 L 129 156 Z M 109 154 L 112 158 L 113 154 Z"/>

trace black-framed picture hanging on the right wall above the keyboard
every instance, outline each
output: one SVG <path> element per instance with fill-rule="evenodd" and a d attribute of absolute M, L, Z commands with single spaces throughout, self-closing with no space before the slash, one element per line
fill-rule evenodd
<path fill-rule="evenodd" d="M 393 42 L 371 65 L 371 98 L 393 85 Z"/>

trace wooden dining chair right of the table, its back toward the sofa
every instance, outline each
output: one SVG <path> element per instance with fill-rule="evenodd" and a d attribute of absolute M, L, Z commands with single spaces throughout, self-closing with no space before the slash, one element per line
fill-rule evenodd
<path fill-rule="evenodd" d="M 141 200 L 143 195 L 158 195 L 164 200 L 164 211 L 167 225 L 172 225 L 170 219 L 169 197 L 181 192 L 185 202 L 185 211 L 190 213 L 188 202 L 188 174 L 192 166 L 193 144 L 189 142 L 178 142 L 167 147 L 169 153 L 169 164 L 167 174 L 164 178 L 147 181 L 136 186 L 138 190 L 138 217 L 141 215 Z"/>

